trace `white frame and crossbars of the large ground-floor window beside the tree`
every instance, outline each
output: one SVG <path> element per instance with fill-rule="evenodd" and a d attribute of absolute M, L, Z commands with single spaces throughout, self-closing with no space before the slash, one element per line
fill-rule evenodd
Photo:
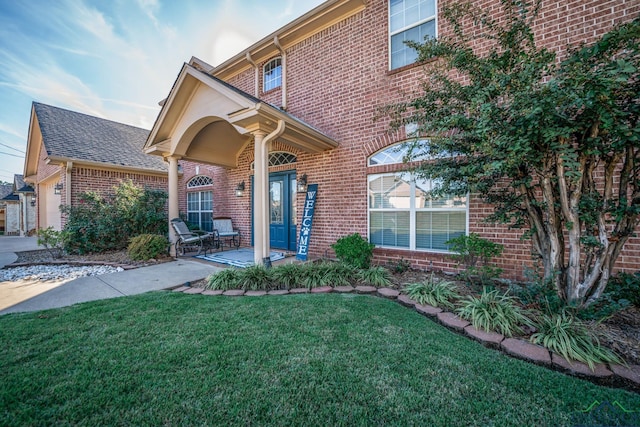
<path fill-rule="evenodd" d="M 423 253 L 438 253 L 438 254 L 450 254 L 451 251 L 442 250 L 442 249 L 421 249 L 416 247 L 416 213 L 417 212 L 465 212 L 465 235 L 469 235 L 469 195 L 467 194 L 467 203 L 464 208 L 450 208 L 450 209 L 442 209 L 442 208 L 416 208 L 416 182 L 413 177 L 411 177 L 408 181 L 411 185 L 411 198 L 409 200 L 409 209 L 390 209 L 390 208 L 371 208 L 369 206 L 369 183 L 371 179 L 374 177 L 380 176 L 389 176 L 396 175 L 401 176 L 403 174 L 407 174 L 407 172 L 386 172 L 386 173 L 375 173 L 367 175 L 367 240 L 370 241 L 371 234 L 371 215 L 370 212 L 409 212 L 409 247 L 404 248 L 400 246 L 386 246 L 386 245 L 378 245 L 376 244 L 376 248 L 383 249 L 393 249 L 399 251 L 408 251 L 408 252 L 423 252 Z"/>

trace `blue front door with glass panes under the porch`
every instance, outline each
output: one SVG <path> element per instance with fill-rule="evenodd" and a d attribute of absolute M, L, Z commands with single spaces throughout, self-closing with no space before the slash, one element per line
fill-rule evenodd
<path fill-rule="evenodd" d="M 274 249 L 296 250 L 296 218 L 296 172 L 270 174 L 269 246 Z"/>

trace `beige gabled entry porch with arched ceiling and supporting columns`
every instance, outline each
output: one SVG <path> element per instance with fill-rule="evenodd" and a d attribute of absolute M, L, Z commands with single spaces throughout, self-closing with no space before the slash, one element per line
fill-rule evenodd
<path fill-rule="evenodd" d="M 321 153 L 338 143 L 301 120 L 197 67 L 184 64 L 154 124 L 145 152 L 169 164 L 169 216 L 179 217 L 178 161 L 239 168 L 238 159 L 253 147 L 254 263 L 269 260 L 269 152 L 274 141 L 304 153 Z M 249 180 L 250 170 L 242 171 Z M 227 184 L 229 185 L 229 184 Z M 235 189 L 235 183 L 231 184 Z M 170 237 L 175 241 L 171 227 Z M 174 254 L 175 255 L 175 254 Z"/>

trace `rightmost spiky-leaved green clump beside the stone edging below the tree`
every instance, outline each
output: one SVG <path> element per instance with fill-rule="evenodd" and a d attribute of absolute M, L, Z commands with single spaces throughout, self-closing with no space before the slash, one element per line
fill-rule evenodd
<path fill-rule="evenodd" d="M 531 335 L 531 342 L 541 344 L 567 360 L 584 362 L 592 370 L 596 363 L 623 363 L 611 350 L 601 347 L 586 325 L 566 310 L 541 315 L 536 326 L 538 331 Z"/>

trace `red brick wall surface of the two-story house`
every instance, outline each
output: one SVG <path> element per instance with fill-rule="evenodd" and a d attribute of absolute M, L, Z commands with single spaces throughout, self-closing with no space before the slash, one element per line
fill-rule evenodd
<path fill-rule="evenodd" d="M 446 1 L 438 3 L 441 11 Z M 499 5 L 497 0 L 474 3 L 484 10 L 496 11 Z M 387 120 L 374 120 L 377 108 L 400 100 L 402 93 L 419 89 L 421 67 L 388 71 L 387 5 L 385 0 L 369 0 L 362 12 L 287 50 L 287 111 L 340 144 L 319 155 L 297 153 L 298 175 L 305 173 L 309 183 L 319 184 L 310 248 L 312 256 L 332 256 L 330 245 L 343 235 L 354 232 L 368 235 L 367 175 L 380 173 L 385 167 L 368 168 L 367 157 L 404 138 L 402 133 L 388 133 Z M 560 52 L 561 56 L 567 44 L 591 42 L 614 24 L 630 21 L 638 15 L 640 2 L 637 0 L 546 0 L 534 29 L 538 42 Z M 439 34 L 446 34 L 444 25 L 444 20 L 440 19 Z M 260 79 L 262 65 L 259 64 Z M 254 73 L 254 69 L 250 69 L 229 82 L 253 94 Z M 280 105 L 279 89 L 260 96 Z M 222 193 L 215 196 L 225 201 L 224 208 L 220 209 L 224 209 L 225 215 L 232 216 L 243 232 L 250 230 L 248 177 L 252 173 L 249 171 L 252 160 L 253 146 L 250 146 L 240 156 L 239 168 L 226 172 L 226 187 L 224 191 L 218 190 Z M 222 170 L 214 172 L 214 181 L 223 185 L 225 173 Z M 185 172 L 184 179 L 188 176 Z M 242 180 L 247 192 L 243 198 L 235 198 L 233 189 Z M 299 197 L 299 215 L 302 203 L 303 198 Z M 505 269 L 505 276 L 521 277 L 524 267 L 532 264 L 530 242 L 520 240 L 522 231 L 483 223 L 482 217 L 489 212 L 490 206 L 472 198 L 469 231 L 505 245 L 499 266 Z M 380 263 L 404 258 L 419 267 L 455 268 L 442 254 L 389 249 L 376 249 L 375 254 Z M 637 270 L 639 266 L 640 240 L 634 238 L 627 243 L 619 268 Z"/>

